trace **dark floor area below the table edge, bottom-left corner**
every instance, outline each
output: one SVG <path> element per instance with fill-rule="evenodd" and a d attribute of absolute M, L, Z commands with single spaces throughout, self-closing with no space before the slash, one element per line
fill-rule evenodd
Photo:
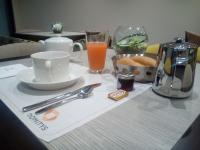
<path fill-rule="evenodd" d="M 0 149 L 46 150 L 46 147 L 0 100 Z"/>

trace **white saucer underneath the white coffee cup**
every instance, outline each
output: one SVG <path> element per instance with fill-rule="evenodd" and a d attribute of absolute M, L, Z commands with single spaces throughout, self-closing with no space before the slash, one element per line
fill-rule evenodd
<path fill-rule="evenodd" d="M 69 77 L 59 82 L 39 82 L 35 81 L 35 75 L 32 68 L 20 71 L 17 78 L 26 85 L 38 90 L 58 90 L 75 84 L 80 78 L 80 73 L 70 73 Z"/>

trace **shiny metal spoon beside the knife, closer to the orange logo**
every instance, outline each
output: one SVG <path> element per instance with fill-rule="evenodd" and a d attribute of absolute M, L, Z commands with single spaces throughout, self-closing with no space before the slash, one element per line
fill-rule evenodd
<path fill-rule="evenodd" d="M 64 99 L 64 100 L 61 100 L 57 103 L 54 103 L 52 105 L 49 105 L 47 107 L 44 107 L 38 111 L 35 112 L 36 115 L 39 115 L 41 113 L 44 113 L 50 109 L 53 109 L 53 108 L 56 108 L 58 106 L 62 106 L 66 103 L 69 103 L 71 101 L 74 101 L 74 100 L 77 100 L 77 99 L 84 99 L 84 98 L 87 98 L 91 95 L 92 91 L 93 91 L 93 87 L 86 87 L 86 88 L 83 88 L 81 89 L 81 91 L 75 96 L 75 97 L 72 97 L 72 98 L 68 98 L 68 99 Z"/>

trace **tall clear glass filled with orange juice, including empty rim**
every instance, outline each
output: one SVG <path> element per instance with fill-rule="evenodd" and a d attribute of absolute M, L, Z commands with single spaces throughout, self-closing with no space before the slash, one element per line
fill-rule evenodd
<path fill-rule="evenodd" d="M 107 39 L 107 32 L 95 32 L 86 34 L 88 64 L 91 73 L 102 73 L 104 69 Z"/>

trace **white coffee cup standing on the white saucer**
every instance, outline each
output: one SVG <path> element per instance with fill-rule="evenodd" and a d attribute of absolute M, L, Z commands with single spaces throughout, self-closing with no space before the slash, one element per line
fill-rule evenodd
<path fill-rule="evenodd" d="M 36 82 L 60 82 L 69 78 L 69 54 L 46 51 L 31 55 Z"/>

